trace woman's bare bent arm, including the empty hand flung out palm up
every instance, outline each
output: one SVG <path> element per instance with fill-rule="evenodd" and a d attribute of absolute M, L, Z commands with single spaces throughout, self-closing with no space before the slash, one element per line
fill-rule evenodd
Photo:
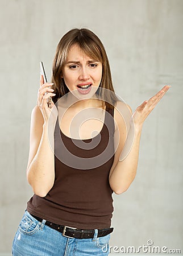
<path fill-rule="evenodd" d="M 168 89 L 169 86 L 164 86 L 160 92 L 158 92 L 148 101 L 144 101 L 143 104 L 135 110 L 130 122 L 130 129 L 128 130 L 126 143 L 124 143 L 124 134 L 120 129 L 119 147 L 115 152 L 115 163 L 112 166 L 109 175 L 111 189 L 113 189 L 113 191 L 117 194 L 126 191 L 135 178 L 138 167 L 140 135 L 142 132 L 143 123 L 145 118 L 147 118 L 149 113 L 151 113 L 151 111 L 155 108 Z M 120 123 L 122 123 L 122 119 L 118 118 L 117 122 L 120 125 Z M 134 141 L 130 151 L 128 151 L 128 154 L 126 154 L 126 147 L 128 150 L 128 141 L 131 141 L 131 138 L 133 138 Z"/>

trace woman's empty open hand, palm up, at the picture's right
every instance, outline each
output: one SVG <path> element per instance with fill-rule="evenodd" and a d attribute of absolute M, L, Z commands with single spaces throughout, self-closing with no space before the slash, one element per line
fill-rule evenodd
<path fill-rule="evenodd" d="M 140 106 L 138 106 L 138 108 L 136 108 L 134 114 L 132 115 L 135 127 L 142 128 L 147 116 L 155 108 L 157 103 L 161 100 L 169 88 L 169 85 L 165 85 L 158 93 L 155 94 L 155 96 L 149 98 L 148 101 L 144 101 Z"/>

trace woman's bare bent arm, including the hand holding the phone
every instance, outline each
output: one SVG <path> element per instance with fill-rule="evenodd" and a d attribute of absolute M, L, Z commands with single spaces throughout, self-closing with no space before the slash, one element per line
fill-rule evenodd
<path fill-rule="evenodd" d="M 44 96 L 44 93 L 50 93 Z M 49 115 L 53 108 L 47 105 L 47 98 L 53 96 L 53 90 L 48 89 L 48 84 L 43 83 L 41 76 L 40 89 L 38 93 L 38 105 L 32 110 L 31 129 L 30 129 L 30 152 L 27 164 L 27 180 L 34 193 L 44 197 L 52 188 L 55 179 L 54 163 L 54 129 L 55 122 L 48 122 Z M 55 114 L 56 120 L 57 113 Z M 49 136 L 48 136 L 49 125 Z"/>

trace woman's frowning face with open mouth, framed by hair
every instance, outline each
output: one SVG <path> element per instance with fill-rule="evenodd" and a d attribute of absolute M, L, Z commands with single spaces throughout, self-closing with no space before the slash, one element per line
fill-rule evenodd
<path fill-rule="evenodd" d="M 63 79 L 70 92 L 80 96 L 90 96 L 97 91 L 102 79 L 102 63 L 93 60 L 74 44 L 70 47 L 66 64 L 63 68 Z"/>

